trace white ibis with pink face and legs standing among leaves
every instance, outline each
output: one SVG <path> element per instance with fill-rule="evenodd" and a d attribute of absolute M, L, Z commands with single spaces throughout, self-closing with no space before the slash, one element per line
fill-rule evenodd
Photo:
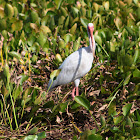
<path fill-rule="evenodd" d="M 58 69 L 61 69 L 59 75 L 56 80 L 53 81 L 50 79 L 48 88 L 50 89 L 59 86 L 68 84 L 70 82 L 75 83 L 75 87 L 72 90 L 72 98 L 75 97 L 75 89 L 76 96 L 79 96 L 78 86 L 80 83 L 80 78 L 83 77 L 92 67 L 92 62 L 95 56 L 95 40 L 93 36 L 94 25 L 89 23 L 87 26 L 88 36 L 89 36 L 89 46 L 78 49 L 69 55 L 61 66 Z"/>

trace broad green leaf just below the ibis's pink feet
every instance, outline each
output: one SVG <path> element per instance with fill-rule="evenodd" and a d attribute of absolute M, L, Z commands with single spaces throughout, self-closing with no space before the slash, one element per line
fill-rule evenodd
<path fill-rule="evenodd" d="M 90 108 L 90 102 L 81 96 L 75 96 L 74 100 L 79 103 L 81 106 L 83 106 L 84 108 L 86 108 L 87 110 L 89 110 Z"/>

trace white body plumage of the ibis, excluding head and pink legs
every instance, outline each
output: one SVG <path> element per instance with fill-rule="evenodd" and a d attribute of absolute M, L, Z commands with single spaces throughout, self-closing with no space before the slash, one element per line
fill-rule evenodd
<path fill-rule="evenodd" d="M 69 55 L 59 67 L 61 71 L 56 80 L 53 82 L 51 88 L 80 79 L 91 69 L 92 61 L 93 54 L 89 47 L 80 48 L 79 50 L 75 51 Z M 79 85 L 78 81 L 75 81 L 75 84 L 77 84 L 76 86 Z M 50 84 L 51 80 L 48 87 Z"/>

